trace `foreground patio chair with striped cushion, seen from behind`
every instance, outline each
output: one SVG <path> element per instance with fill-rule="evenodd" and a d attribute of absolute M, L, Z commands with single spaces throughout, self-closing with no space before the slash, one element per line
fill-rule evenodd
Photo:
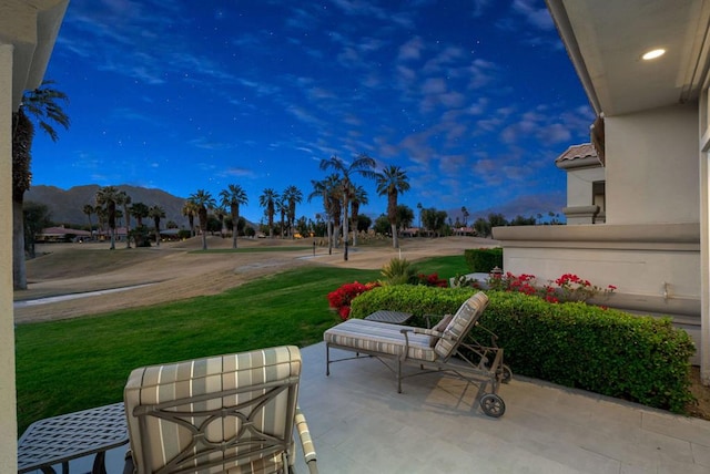
<path fill-rule="evenodd" d="M 124 390 L 124 473 L 293 472 L 294 429 L 317 473 L 297 406 L 300 377 L 293 346 L 133 370 Z"/>

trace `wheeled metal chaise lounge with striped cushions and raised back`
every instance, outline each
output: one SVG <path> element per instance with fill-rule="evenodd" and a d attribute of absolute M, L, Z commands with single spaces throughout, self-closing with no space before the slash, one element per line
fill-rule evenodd
<path fill-rule="evenodd" d="M 469 382 L 480 383 L 481 391 L 490 384 L 490 393 L 480 396 L 480 406 L 488 416 L 501 416 L 505 403 L 497 394 L 498 388 L 513 375 L 503 363 L 503 349 L 498 348 L 497 338 L 490 331 L 487 331 L 491 337 L 488 346 L 467 339 L 470 330 L 478 326 L 487 305 L 488 297 L 478 292 L 464 301 L 454 316 L 443 318 L 433 329 L 348 319 L 323 334 L 326 375 L 331 374 L 331 363 L 362 359 L 362 354 L 377 358 L 396 373 L 399 393 L 405 378 L 450 372 Z M 355 357 L 331 360 L 331 348 L 355 352 Z M 419 370 L 403 374 L 403 365 L 416 365 Z"/>

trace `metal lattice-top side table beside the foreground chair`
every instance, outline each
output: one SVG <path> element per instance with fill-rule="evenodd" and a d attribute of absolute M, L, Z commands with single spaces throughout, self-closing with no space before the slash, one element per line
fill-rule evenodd
<path fill-rule="evenodd" d="M 105 452 L 129 442 L 123 403 L 98 406 L 37 421 L 18 442 L 18 473 L 41 470 L 54 473 L 61 464 L 95 454 L 92 474 L 105 474 Z"/>

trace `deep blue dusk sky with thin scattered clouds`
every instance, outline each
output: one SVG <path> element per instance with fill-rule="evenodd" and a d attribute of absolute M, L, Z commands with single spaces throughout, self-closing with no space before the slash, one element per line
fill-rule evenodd
<path fill-rule="evenodd" d="M 359 154 L 415 213 L 561 214 L 555 158 L 594 121 L 544 0 L 71 0 L 45 79 L 71 126 L 37 133 L 34 185 L 239 184 L 252 221 L 291 185 L 315 218 L 321 162 Z"/>

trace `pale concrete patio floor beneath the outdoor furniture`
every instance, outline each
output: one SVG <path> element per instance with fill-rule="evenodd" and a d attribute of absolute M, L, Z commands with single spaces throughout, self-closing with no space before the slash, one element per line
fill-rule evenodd
<path fill-rule="evenodd" d="M 493 419 L 458 379 L 405 379 L 399 394 L 375 359 L 335 363 L 326 377 L 324 343 L 302 354 L 300 404 L 321 473 L 710 473 L 709 421 L 515 374 L 499 391 L 506 413 Z M 109 474 L 122 472 L 124 452 L 109 453 Z M 84 458 L 71 472 L 89 468 Z"/>

